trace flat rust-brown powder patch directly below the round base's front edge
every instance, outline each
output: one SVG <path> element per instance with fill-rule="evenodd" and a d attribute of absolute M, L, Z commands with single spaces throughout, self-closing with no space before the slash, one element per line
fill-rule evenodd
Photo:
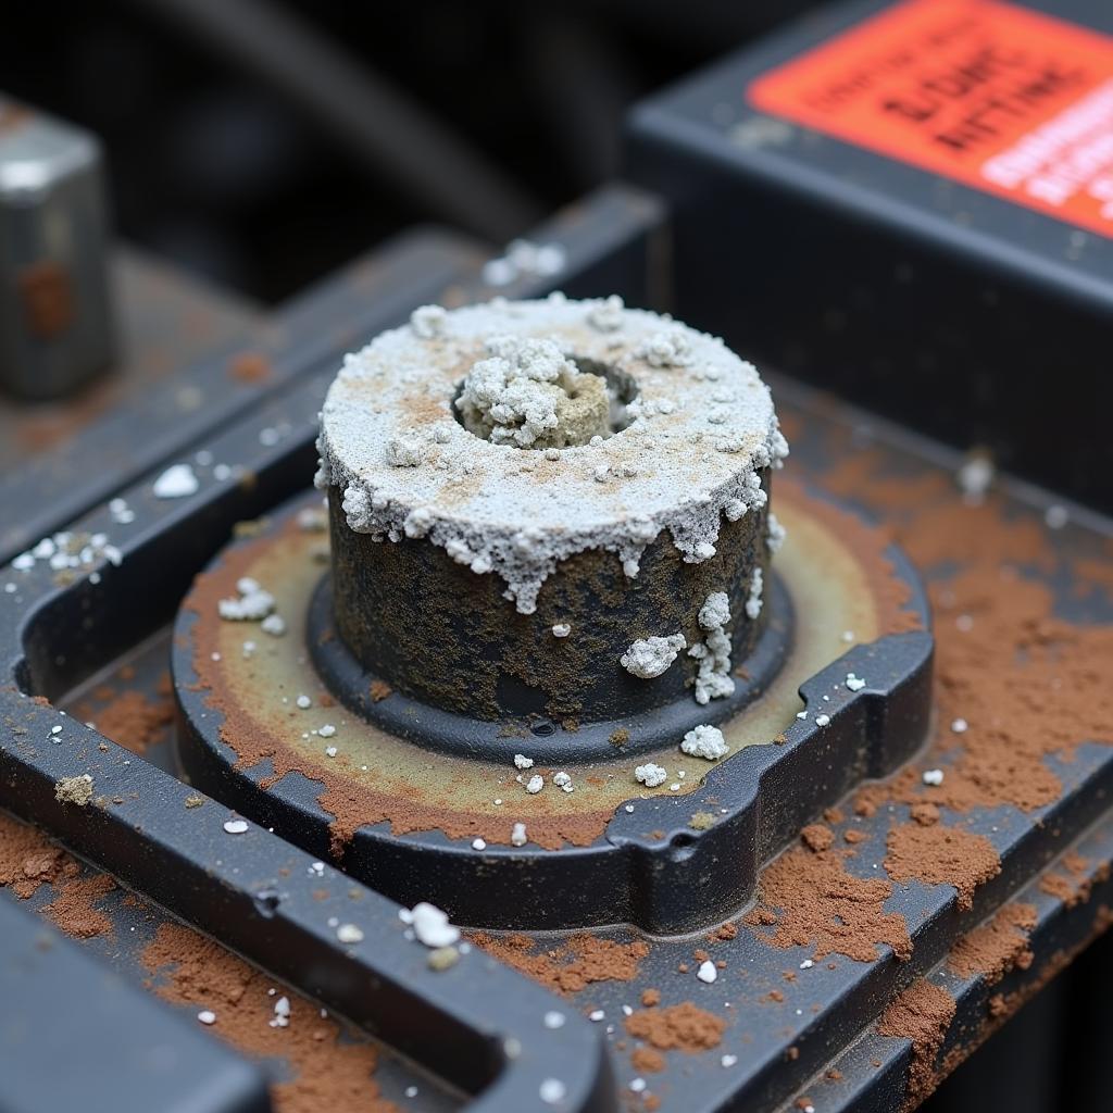
<path fill-rule="evenodd" d="M 476 932 L 472 942 L 508 966 L 558 993 L 579 993 L 594 982 L 632 982 L 638 963 L 649 954 L 640 939 L 615 943 L 591 935 L 574 935 L 552 951 L 536 951 L 528 935 L 489 935 Z"/>

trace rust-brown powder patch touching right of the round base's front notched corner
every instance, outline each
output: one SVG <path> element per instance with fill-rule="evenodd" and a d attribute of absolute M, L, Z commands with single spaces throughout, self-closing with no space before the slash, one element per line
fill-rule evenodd
<path fill-rule="evenodd" d="M 908 958 L 912 942 L 904 917 L 885 910 L 893 886 L 880 878 L 854 877 L 846 870 L 847 850 L 792 847 L 761 874 L 761 905 L 749 923 L 772 923 L 764 935 L 775 947 L 815 946 L 815 957 L 846 955 L 859 962 L 878 956 L 888 944 L 897 958 Z"/>

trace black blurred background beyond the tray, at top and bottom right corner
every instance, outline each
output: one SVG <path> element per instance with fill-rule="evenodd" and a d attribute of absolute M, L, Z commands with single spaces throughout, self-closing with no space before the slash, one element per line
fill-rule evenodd
<path fill-rule="evenodd" d="M 124 237 L 273 303 L 414 224 L 524 233 L 614 176 L 632 101 L 809 7 L 9 4 L 0 85 L 101 137 Z M 1092 992 L 1111 953 L 1092 947 L 925 1110 L 1113 1107 Z"/>

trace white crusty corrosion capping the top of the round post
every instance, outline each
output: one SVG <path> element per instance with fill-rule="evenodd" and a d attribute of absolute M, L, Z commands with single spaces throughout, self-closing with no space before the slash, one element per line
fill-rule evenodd
<path fill-rule="evenodd" d="M 413 323 L 383 333 L 329 388 L 317 483 L 343 494 L 351 529 L 421 535 L 500 577 L 530 614 L 577 553 L 613 552 L 633 577 L 647 545 L 671 541 L 698 563 L 725 520 L 765 505 L 762 474 L 788 449 L 756 370 L 716 337 L 610 299 L 496 301 L 443 324 L 436 345 Z M 546 443 L 575 374 L 600 392 L 605 427 Z"/>

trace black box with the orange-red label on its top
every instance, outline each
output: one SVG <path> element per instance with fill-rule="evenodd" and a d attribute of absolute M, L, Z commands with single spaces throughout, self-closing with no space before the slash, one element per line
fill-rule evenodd
<path fill-rule="evenodd" d="M 1113 7 L 825 7 L 657 96 L 677 312 L 1109 509 Z"/>

